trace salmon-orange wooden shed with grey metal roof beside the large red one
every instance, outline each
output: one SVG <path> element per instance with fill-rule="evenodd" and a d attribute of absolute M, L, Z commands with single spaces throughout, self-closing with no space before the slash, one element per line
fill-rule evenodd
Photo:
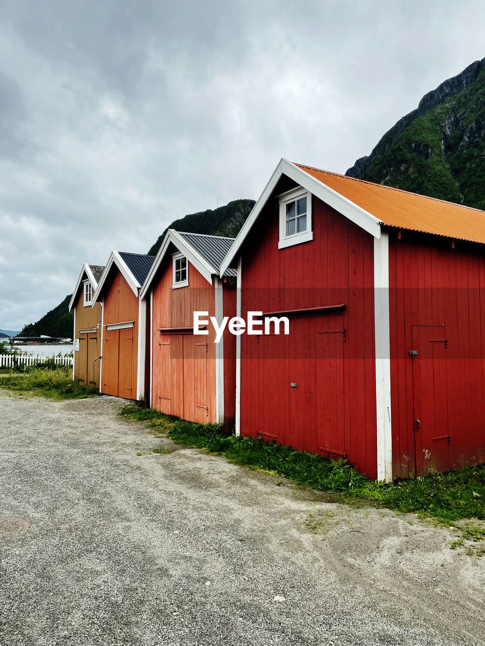
<path fill-rule="evenodd" d="M 235 316 L 236 272 L 227 269 L 219 278 L 232 243 L 169 229 L 141 291 L 151 312 L 151 406 L 226 428 L 235 417 L 235 337 L 226 329 L 215 343 L 211 325 L 208 335 L 194 335 L 193 312 L 206 311 L 219 324 Z"/>

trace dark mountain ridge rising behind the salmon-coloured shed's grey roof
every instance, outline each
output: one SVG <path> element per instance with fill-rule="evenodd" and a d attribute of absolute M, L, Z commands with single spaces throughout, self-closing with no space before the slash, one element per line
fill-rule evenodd
<path fill-rule="evenodd" d="M 254 205 L 254 200 L 233 200 L 233 202 L 220 206 L 218 209 L 207 209 L 207 211 L 191 213 L 184 216 L 184 218 L 180 218 L 180 220 L 174 220 L 167 226 L 162 235 L 158 236 L 155 244 L 150 247 L 147 253 L 149 256 L 156 256 L 167 229 L 235 238 Z"/>

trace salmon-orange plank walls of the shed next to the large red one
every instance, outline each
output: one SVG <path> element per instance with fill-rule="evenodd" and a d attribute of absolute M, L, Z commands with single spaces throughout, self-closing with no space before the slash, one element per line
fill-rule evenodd
<path fill-rule="evenodd" d="M 208 335 L 160 335 L 160 328 L 191 328 L 194 311 L 215 315 L 214 286 L 191 263 L 188 273 L 189 286 L 172 289 L 172 263 L 168 258 L 153 282 L 151 405 L 205 424 L 217 421 L 213 326 L 207 326 Z M 228 295 L 230 291 L 232 296 Z M 225 316 L 235 316 L 235 289 L 223 287 L 223 307 Z M 224 335 L 224 414 L 229 416 L 228 424 L 233 424 L 235 417 L 235 337 L 231 337 Z"/>

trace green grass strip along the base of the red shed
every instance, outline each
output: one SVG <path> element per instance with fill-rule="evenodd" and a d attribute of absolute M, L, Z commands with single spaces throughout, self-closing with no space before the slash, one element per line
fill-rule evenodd
<path fill-rule="evenodd" d="M 282 475 L 298 485 L 328 492 L 339 502 L 413 512 L 444 525 L 463 518 L 485 520 L 485 465 L 383 484 L 368 480 L 343 461 L 333 462 L 289 446 L 236 437 L 224 433 L 216 424 L 193 424 L 136 404 L 126 406 L 121 414 L 148 422 L 155 433 L 166 433 L 178 444 L 206 449 L 225 455 L 235 464 Z"/>

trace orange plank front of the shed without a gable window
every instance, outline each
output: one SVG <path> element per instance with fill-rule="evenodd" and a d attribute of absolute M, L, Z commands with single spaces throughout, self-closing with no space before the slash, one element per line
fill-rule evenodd
<path fill-rule="evenodd" d="M 109 395 L 136 399 L 138 297 L 117 267 L 111 270 L 109 282 L 105 284 L 104 289 L 101 391 Z M 123 329 L 118 335 L 107 334 L 108 325 L 126 321 L 134 321 L 133 328 Z M 110 385 L 105 385 L 107 383 Z"/>

